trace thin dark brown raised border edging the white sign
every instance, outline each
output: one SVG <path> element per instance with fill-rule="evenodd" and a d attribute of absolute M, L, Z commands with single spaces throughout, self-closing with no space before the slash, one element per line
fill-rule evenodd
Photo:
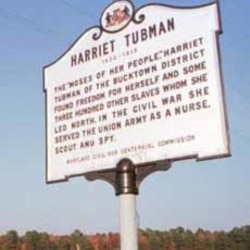
<path fill-rule="evenodd" d="M 192 9 L 199 9 L 199 8 L 203 8 L 206 6 L 210 6 L 213 4 L 216 4 L 217 7 L 217 13 L 218 13 L 218 21 L 219 21 L 219 29 L 218 31 L 215 31 L 216 34 L 216 49 L 217 49 L 217 56 L 218 56 L 218 72 L 219 72 L 219 77 L 220 77 L 220 87 L 221 87 L 221 97 L 222 97 L 222 108 L 224 111 L 224 122 L 225 122 L 225 132 L 226 132 L 226 142 L 227 142 L 227 153 L 225 154 L 221 154 L 221 155 L 215 155 L 215 156 L 209 156 L 209 157 L 203 157 L 203 158 L 198 158 L 197 154 L 194 155 L 189 155 L 189 156 L 182 156 L 182 157 L 176 157 L 176 158 L 171 158 L 171 159 L 164 159 L 164 160 L 159 160 L 159 161 L 154 161 L 154 162 L 145 162 L 143 164 L 137 164 L 136 167 L 141 168 L 145 165 L 154 165 L 157 162 L 162 162 L 162 161 L 170 161 L 170 162 L 175 162 L 175 161 L 182 161 L 182 160 L 188 160 L 188 159 L 196 159 L 196 161 L 205 161 L 205 160 L 212 160 L 212 159 L 220 159 L 220 158 L 224 158 L 224 157 L 230 157 L 231 156 L 231 149 L 230 149 L 230 135 L 229 135 L 229 122 L 228 122 L 228 112 L 227 112 L 227 106 L 226 106 L 226 100 L 225 100 L 225 87 L 224 87 L 224 79 L 223 79 L 223 74 L 222 74 L 222 60 L 221 60 L 221 49 L 219 46 L 219 35 L 223 33 L 222 31 L 222 22 L 221 22 L 221 12 L 220 12 L 220 3 L 219 0 L 215 0 L 209 3 L 205 3 L 205 4 L 201 4 L 201 5 L 195 5 L 195 6 L 174 6 L 174 5 L 168 5 L 168 4 L 163 4 L 163 3 L 149 3 L 146 5 L 142 5 L 141 7 L 139 7 L 138 9 L 134 8 L 134 4 L 128 0 L 128 2 L 131 4 L 131 6 L 133 7 L 133 13 L 132 13 L 132 17 L 130 18 L 129 22 L 124 25 L 122 28 L 116 30 L 116 31 L 107 31 L 106 29 L 103 28 L 101 20 L 102 20 L 102 16 L 103 13 L 105 13 L 105 11 L 115 2 L 119 2 L 120 0 L 116 0 L 113 3 L 109 4 L 104 11 L 102 12 L 101 16 L 100 16 L 100 26 L 92 26 L 89 27 L 88 29 L 84 30 L 84 32 L 82 32 L 78 38 L 71 44 L 71 46 L 68 47 L 68 49 L 66 49 L 66 51 L 59 56 L 55 61 L 53 61 L 50 64 L 47 64 L 43 67 L 43 92 L 45 94 L 45 159 L 46 159 L 46 173 L 45 173 L 45 178 L 46 178 L 46 183 L 47 184 L 52 184 L 52 183 L 60 183 L 60 182 L 66 182 L 69 180 L 69 178 L 73 178 L 73 177 L 83 177 L 86 176 L 88 174 L 93 174 L 93 173 L 105 173 L 105 172 L 109 172 L 112 171 L 115 166 L 113 168 L 110 169 L 105 169 L 105 170 L 96 170 L 96 171 L 88 171 L 86 173 L 81 173 L 81 174 L 73 174 L 73 175 L 66 175 L 64 176 L 63 179 L 58 179 L 58 180 L 53 180 L 50 181 L 48 180 L 48 106 L 47 106 L 47 100 L 48 100 L 48 96 L 47 96 L 47 89 L 45 88 L 45 70 L 46 68 L 54 65 L 55 63 L 57 63 L 60 59 L 62 59 L 69 51 L 70 49 L 80 40 L 80 38 L 82 36 L 84 36 L 85 33 L 87 33 L 89 30 L 97 28 L 99 33 L 95 33 L 93 35 L 93 40 L 98 40 L 103 32 L 107 32 L 107 33 L 117 33 L 119 31 L 121 31 L 122 29 L 124 29 L 125 27 L 127 27 L 127 25 L 130 22 L 134 22 L 137 24 L 140 24 L 141 22 L 143 22 L 145 16 L 144 15 L 140 15 L 139 17 L 136 16 L 136 14 L 142 10 L 143 8 L 146 8 L 148 6 L 162 6 L 162 7 L 167 7 L 167 8 L 172 8 L 172 9 L 182 9 L 182 10 L 192 10 Z M 223 117 L 222 117 L 223 118 Z"/>

